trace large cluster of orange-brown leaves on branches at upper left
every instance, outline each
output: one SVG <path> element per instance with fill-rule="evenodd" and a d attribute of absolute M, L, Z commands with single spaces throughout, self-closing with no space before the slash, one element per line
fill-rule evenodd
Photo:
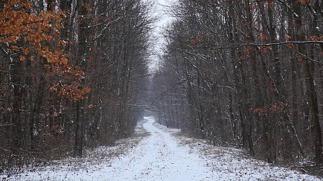
<path fill-rule="evenodd" d="M 41 10 L 36 14 L 32 13 L 30 1 L 9 0 L 0 12 L 0 45 L 9 50 L 7 56 L 18 54 L 21 61 L 29 58 L 34 64 L 35 61 L 43 64 L 47 78 L 60 77 L 50 87 L 59 97 L 80 100 L 90 89 L 79 88 L 84 72 L 69 65 L 63 50 L 67 45 L 60 33 L 64 17 L 61 10 Z"/>

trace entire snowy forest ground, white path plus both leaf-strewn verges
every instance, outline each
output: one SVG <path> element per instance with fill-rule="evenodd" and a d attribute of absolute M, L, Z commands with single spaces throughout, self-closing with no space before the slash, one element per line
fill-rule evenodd
<path fill-rule="evenodd" d="M 133 138 L 116 146 L 99 147 L 82 159 L 67 158 L 9 180 L 322 180 L 178 133 L 146 117 Z"/>

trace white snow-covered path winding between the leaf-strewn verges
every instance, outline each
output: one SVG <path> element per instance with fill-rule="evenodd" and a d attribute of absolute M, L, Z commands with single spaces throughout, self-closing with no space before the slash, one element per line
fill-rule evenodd
<path fill-rule="evenodd" d="M 153 118 L 145 120 L 143 128 L 151 135 L 112 164 L 112 180 L 214 180 L 198 155 L 179 147 L 170 133 L 153 125 Z"/>

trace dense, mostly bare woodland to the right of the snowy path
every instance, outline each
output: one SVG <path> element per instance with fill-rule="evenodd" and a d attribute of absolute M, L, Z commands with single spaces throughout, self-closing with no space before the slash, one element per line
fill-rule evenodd
<path fill-rule="evenodd" d="M 323 1 L 176 0 L 155 117 L 269 163 L 322 163 Z"/>

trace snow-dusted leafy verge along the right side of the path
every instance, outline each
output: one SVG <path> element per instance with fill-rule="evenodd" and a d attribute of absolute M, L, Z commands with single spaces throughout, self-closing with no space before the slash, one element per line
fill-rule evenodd
<path fill-rule="evenodd" d="M 156 127 L 170 132 L 165 126 Z M 213 146 L 205 140 L 188 138 L 181 133 L 172 132 L 179 138 L 180 145 L 188 148 L 190 153 L 200 155 L 204 165 L 215 174 L 214 180 L 323 180 L 289 168 L 247 158 L 241 149 Z"/>

